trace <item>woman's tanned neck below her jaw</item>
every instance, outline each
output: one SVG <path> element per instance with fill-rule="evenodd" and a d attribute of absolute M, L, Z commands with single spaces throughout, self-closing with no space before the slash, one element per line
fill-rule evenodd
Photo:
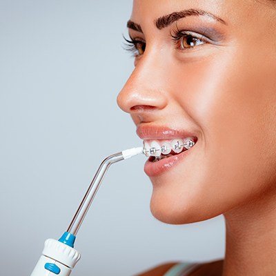
<path fill-rule="evenodd" d="M 265 195 L 224 214 L 223 276 L 276 274 L 276 195 Z"/>

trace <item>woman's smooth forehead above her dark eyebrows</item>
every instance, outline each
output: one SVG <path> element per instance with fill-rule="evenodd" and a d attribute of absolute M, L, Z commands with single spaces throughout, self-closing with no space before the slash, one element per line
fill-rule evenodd
<path fill-rule="evenodd" d="M 154 26 L 158 17 L 181 10 L 204 10 L 224 19 L 229 25 L 241 26 L 254 18 L 266 17 L 275 10 L 266 0 L 134 0 L 130 19 L 141 26 Z M 197 17 L 200 20 L 199 17 Z M 275 15 L 274 15 L 275 19 Z M 204 20 L 212 21 L 210 17 Z"/>

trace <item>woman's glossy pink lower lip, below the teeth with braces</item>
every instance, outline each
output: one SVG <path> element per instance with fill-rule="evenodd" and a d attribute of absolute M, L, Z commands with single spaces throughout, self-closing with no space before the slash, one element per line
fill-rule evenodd
<path fill-rule="evenodd" d="M 172 155 L 171 157 L 159 161 L 152 162 L 147 160 L 144 166 L 144 171 L 149 177 L 156 177 L 157 175 L 174 168 L 177 164 L 181 163 L 181 161 L 184 161 L 185 157 L 190 155 L 190 152 L 193 151 L 193 148 L 195 148 L 195 146 L 179 153 L 178 155 Z"/>

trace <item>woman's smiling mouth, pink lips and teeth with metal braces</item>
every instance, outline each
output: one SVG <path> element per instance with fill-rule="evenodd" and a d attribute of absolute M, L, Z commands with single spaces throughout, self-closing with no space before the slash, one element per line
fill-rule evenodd
<path fill-rule="evenodd" d="M 197 137 L 187 130 L 174 130 L 164 126 L 139 125 L 137 135 L 144 139 L 144 153 L 148 161 L 144 171 L 149 177 L 160 175 L 177 166 L 193 152 Z"/>

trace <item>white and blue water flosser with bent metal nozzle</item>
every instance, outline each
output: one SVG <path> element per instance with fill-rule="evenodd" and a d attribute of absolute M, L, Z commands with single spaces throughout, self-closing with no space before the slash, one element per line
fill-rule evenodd
<path fill-rule="evenodd" d="M 143 148 L 130 148 L 122 152 L 110 155 L 101 162 L 86 195 L 83 197 L 68 230 L 59 240 L 47 239 L 44 244 L 42 255 L 32 271 L 31 276 L 68 276 L 75 267 L 81 255 L 75 250 L 74 243 L 77 231 L 88 212 L 88 209 L 99 189 L 101 181 L 109 166 L 117 161 L 128 159 L 143 152 Z"/>

